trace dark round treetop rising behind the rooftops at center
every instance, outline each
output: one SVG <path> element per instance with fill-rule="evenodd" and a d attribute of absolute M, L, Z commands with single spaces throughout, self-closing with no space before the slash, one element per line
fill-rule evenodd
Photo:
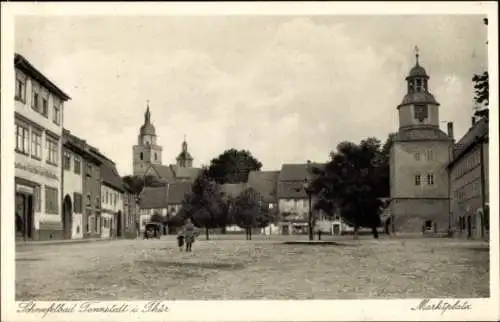
<path fill-rule="evenodd" d="M 208 175 L 219 184 L 242 183 L 248 180 L 250 171 L 261 167 L 250 151 L 229 149 L 210 162 Z"/>

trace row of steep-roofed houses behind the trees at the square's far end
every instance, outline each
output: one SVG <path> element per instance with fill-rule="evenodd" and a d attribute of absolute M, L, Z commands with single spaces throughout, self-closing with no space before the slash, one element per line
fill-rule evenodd
<path fill-rule="evenodd" d="M 284 164 L 279 171 L 251 171 L 245 183 L 223 184 L 222 191 L 226 197 L 237 197 L 247 188 L 255 189 L 270 210 L 281 214 L 278 223 L 262 229 L 261 233 L 304 234 L 307 232 L 309 207 L 314 205 L 314 197 L 309 196 L 304 184 L 313 179 L 312 169 L 322 164 Z M 181 208 L 184 196 L 191 191 L 192 181 L 166 183 L 163 187 L 146 187 L 140 196 L 141 231 L 150 221 L 153 214 L 174 216 Z M 315 218 L 315 229 L 329 234 L 341 234 L 349 229 L 342 223 L 340 216 L 333 218 L 321 211 L 311 209 Z M 227 232 L 242 231 L 237 226 L 226 227 Z"/>

